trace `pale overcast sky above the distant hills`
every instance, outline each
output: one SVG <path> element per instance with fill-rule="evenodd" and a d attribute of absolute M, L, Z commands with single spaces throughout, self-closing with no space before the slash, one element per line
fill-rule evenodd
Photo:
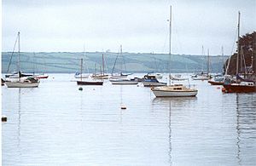
<path fill-rule="evenodd" d="M 172 54 L 231 54 L 237 13 L 241 35 L 256 31 L 256 0 L 3 0 L 2 49 L 168 53 L 172 4 Z M 207 52 L 207 50 L 206 50 Z"/>

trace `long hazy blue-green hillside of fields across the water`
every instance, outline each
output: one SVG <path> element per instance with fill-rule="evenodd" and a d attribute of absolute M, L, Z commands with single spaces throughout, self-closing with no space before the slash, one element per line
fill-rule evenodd
<path fill-rule="evenodd" d="M 2 72 L 7 72 L 10 52 L 2 53 Z M 84 58 L 84 72 L 99 72 L 102 66 L 102 53 L 72 53 L 72 52 L 39 52 L 39 53 L 20 53 L 20 66 L 22 72 L 57 72 L 72 73 L 78 72 L 80 59 Z M 112 72 L 113 64 L 117 53 L 103 53 L 108 72 Z M 18 55 L 13 55 L 9 71 L 16 70 Z M 123 57 L 123 58 L 122 58 Z M 168 72 L 168 54 L 133 54 L 123 53 L 116 61 L 114 72 L 118 72 L 121 67 L 124 72 Z M 224 56 L 226 60 L 228 57 Z M 211 72 L 222 72 L 223 59 L 221 56 L 211 56 Z M 125 65 L 121 65 L 125 64 Z M 126 70 L 125 70 L 126 69 Z M 201 72 L 207 70 L 207 57 L 200 55 L 177 55 L 172 54 L 172 72 Z"/>

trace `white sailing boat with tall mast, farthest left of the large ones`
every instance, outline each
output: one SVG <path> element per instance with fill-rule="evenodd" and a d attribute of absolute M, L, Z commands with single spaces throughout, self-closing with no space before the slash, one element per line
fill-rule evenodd
<path fill-rule="evenodd" d="M 17 78 L 6 81 L 5 84 L 8 88 L 36 88 L 40 81 L 36 77 L 24 76 L 20 72 L 20 31 L 18 32 L 18 73 Z"/>

